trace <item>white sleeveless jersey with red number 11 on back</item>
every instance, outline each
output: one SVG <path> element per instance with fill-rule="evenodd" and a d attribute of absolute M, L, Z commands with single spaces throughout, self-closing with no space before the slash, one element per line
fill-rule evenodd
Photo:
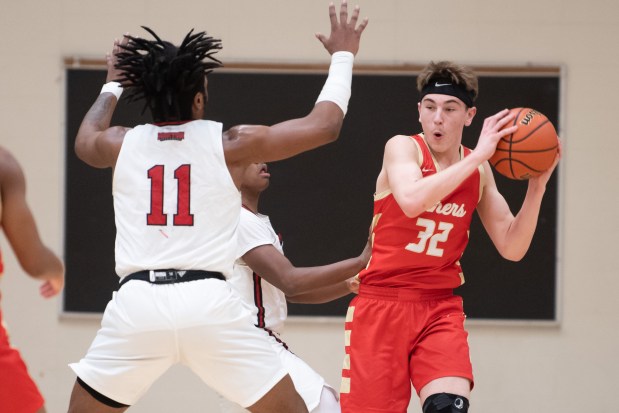
<path fill-rule="evenodd" d="M 154 269 L 232 274 L 241 196 L 226 166 L 221 123 L 128 131 L 112 193 L 121 278 Z"/>

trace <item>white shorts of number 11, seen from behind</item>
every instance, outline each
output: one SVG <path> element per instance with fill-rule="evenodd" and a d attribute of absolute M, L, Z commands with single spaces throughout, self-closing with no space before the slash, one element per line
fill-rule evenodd
<path fill-rule="evenodd" d="M 228 283 L 133 280 L 115 292 L 86 356 L 70 367 L 90 387 L 133 405 L 170 366 L 251 406 L 288 372 Z"/>

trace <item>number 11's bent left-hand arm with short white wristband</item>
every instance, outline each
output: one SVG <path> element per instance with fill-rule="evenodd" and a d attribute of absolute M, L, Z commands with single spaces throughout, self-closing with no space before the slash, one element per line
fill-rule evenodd
<path fill-rule="evenodd" d="M 115 68 L 120 45 L 126 42 L 115 40 L 112 52 L 106 55 L 107 83 L 84 116 L 75 139 L 75 153 L 82 161 L 96 168 L 113 167 L 116 164 L 122 140 L 128 128 L 110 127 L 112 115 L 122 93 L 120 83 L 114 82 L 120 74 Z"/>

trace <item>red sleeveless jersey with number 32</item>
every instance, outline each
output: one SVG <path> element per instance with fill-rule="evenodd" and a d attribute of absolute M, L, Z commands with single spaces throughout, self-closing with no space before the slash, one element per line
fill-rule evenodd
<path fill-rule="evenodd" d="M 412 136 L 424 177 L 435 162 L 423 134 Z M 460 156 L 471 150 L 461 146 Z M 456 288 L 464 283 L 460 257 L 469 239 L 481 196 L 480 166 L 452 193 L 417 217 L 407 217 L 391 191 L 374 195 L 372 258 L 359 277 L 363 284 L 407 289 Z"/>

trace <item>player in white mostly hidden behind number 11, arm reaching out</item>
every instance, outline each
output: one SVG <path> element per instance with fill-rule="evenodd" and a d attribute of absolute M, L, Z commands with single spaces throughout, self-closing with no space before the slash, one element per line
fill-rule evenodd
<path fill-rule="evenodd" d="M 269 332 L 271 344 L 312 413 L 339 413 L 336 391 L 307 363 L 288 350 L 281 334 L 287 317 L 286 298 L 299 303 L 323 303 L 356 292 L 354 276 L 365 268 L 370 246 L 361 255 L 329 265 L 294 267 L 269 217 L 258 212 L 260 194 L 269 186 L 265 163 L 252 164 L 241 185 L 243 210 L 239 222 L 238 259 L 228 279 L 251 310 L 256 327 Z M 220 398 L 221 413 L 247 410 Z"/>

